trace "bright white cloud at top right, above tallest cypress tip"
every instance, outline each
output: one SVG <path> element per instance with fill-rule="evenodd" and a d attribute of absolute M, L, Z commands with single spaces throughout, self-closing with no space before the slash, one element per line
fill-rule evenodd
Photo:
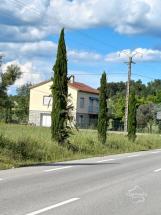
<path fill-rule="evenodd" d="M 160 0 L 53 0 L 49 14 L 52 10 L 69 29 L 107 26 L 124 34 L 154 34 L 161 33 L 160 8 Z"/>

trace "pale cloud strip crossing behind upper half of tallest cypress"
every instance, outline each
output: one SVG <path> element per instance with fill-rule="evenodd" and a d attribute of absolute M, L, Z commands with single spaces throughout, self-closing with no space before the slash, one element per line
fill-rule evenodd
<path fill-rule="evenodd" d="M 42 58 L 46 61 L 47 58 L 53 59 L 56 56 L 57 44 L 52 41 L 40 41 L 32 43 L 0 43 L 0 50 L 3 50 L 8 59 L 34 59 Z M 103 56 L 96 52 L 87 52 L 81 50 L 73 50 L 68 48 L 68 59 L 70 61 L 93 62 L 103 60 Z"/>

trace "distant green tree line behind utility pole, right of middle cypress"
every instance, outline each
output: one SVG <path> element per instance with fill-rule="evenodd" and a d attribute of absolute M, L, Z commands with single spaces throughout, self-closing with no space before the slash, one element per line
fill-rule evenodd
<path fill-rule="evenodd" d="M 156 79 L 142 83 L 141 80 L 131 81 L 131 89 L 135 89 L 137 110 L 137 128 L 140 131 L 147 129 L 152 132 L 154 126 L 161 131 L 161 122 L 157 120 L 157 112 L 161 111 L 161 80 Z M 109 99 L 109 118 L 113 125 L 111 129 L 123 129 L 125 113 L 125 82 L 110 82 L 107 84 L 107 96 Z"/>

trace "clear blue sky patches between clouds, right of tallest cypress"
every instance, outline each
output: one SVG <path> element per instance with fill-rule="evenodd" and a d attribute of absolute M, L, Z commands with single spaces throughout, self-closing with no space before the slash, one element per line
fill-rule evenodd
<path fill-rule="evenodd" d="M 161 39 L 151 35 L 123 35 L 115 32 L 111 28 L 98 27 L 86 30 L 75 30 L 66 32 L 66 42 L 72 49 L 85 50 L 87 52 L 96 52 L 102 55 L 117 52 L 119 50 L 130 49 L 135 50 L 138 47 L 145 49 L 158 49 L 161 44 Z M 161 76 L 161 62 L 142 62 L 135 60 L 136 65 L 133 65 L 132 78 L 137 80 L 141 79 L 147 83 L 155 78 Z M 127 66 L 124 64 L 126 60 L 120 62 L 101 62 L 86 64 L 69 63 L 71 70 L 79 69 L 87 71 L 87 73 L 100 74 L 105 70 L 111 81 L 126 81 L 127 79 Z M 154 74 L 155 71 L 155 74 Z M 119 74 L 122 73 L 122 74 Z M 99 76 L 97 76 L 98 78 Z"/>

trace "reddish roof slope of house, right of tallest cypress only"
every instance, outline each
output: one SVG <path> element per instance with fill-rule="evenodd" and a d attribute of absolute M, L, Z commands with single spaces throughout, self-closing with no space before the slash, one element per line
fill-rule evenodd
<path fill-rule="evenodd" d="M 78 89 L 82 92 L 87 92 L 87 93 L 94 93 L 94 94 L 99 94 L 99 91 L 86 85 L 83 83 L 79 83 L 79 82 L 73 82 L 73 83 L 69 83 L 69 86 Z"/>

